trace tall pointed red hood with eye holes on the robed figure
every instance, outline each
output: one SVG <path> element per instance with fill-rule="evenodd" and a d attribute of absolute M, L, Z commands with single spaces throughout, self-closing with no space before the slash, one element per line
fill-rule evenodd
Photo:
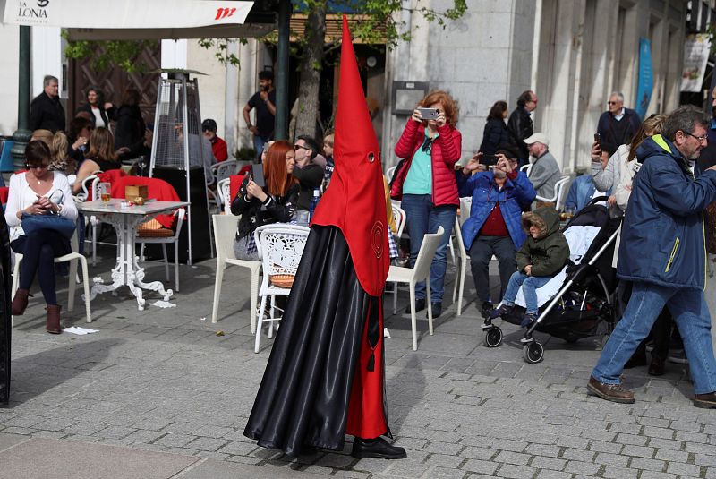
<path fill-rule="evenodd" d="M 390 262 L 383 171 L 345 15 L 338 81 L 336 167 L 311 224 L 341 229 L 358 281 L 366 293 L 379 296 Z"/>

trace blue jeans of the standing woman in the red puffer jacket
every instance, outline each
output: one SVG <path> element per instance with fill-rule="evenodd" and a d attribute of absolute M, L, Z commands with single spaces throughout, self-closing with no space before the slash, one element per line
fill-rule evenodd
<path fill-rule="evenodd" d="M 430 264 L 431 303 L 442 303 L 445 294 L 445 270 L 447 269 L 447 242 L 455 225 L 456 205 L 435 206 L 430 194 L 404 194 L 400 208 L 405 210 L 408 235 L 410 235 L 410 267 L 415 266 L 422 245 L 422 236 L 437 233 L 439 227 L 445 233 L 438 245 L 438 251 Z M 415 299 L 425 299 L 425 282 L 415 285 Z"/>

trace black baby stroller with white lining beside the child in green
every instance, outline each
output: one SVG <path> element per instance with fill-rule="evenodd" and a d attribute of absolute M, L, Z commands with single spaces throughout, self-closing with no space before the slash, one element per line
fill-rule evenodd
<path fill-rule="evenodd" d="M 592 199 L 564 229 L 570 261 L 537 290 L 539 317 L 520 340 L 527 363 L 539 363 L 544 357 L 544 347 L 533 338 L 534 331 L 573 343 L 581 338 L 608 334 L 614 327 L 618 279 L 611 263 L 622 218 L 609 218 L 609 209 L 596 204 L 606 200 L 606 196 Z M 520 324 L 523 315 L 524 297 L 520 291 L 515 308 L 502 319 Z M 485 346 L 502 344 L 502 329 L 492 324 L 490 318 L 485 319 L 482 330 Z"/>

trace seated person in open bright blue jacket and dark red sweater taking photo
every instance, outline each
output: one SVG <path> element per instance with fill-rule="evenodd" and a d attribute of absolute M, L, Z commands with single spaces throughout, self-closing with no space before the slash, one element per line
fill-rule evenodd
<path fill-rule="evenodd" d="M 465 165 L 462 174 L 456 175 L 460 196 L 473 199 L 470 218 L 465 220 L 461 231 L 465 250 L 470 252 L 483 318 L 490 316 L 493 306 L 490 259 L 494 254 L 499 261 L 501 298 L 509 278 L 517 270 L 517 249 L 526 238 L 521 224 L 522 211 L 537 194 L 527 175 L 519 171 L 516 151 L 511 146 L 499 146 L 496 157 L 497 165 L 490 171 L 478 171 L 482 158 L 482 153 L 478 153 Z"/>

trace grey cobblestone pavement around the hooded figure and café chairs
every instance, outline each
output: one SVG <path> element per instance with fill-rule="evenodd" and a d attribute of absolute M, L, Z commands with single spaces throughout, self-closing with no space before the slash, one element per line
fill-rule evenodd
<path fill-rule="evenodd" d="M 92 274 L 108 269 L 105 261 Z M 14 324 L 12 403 L 0 409 L 0 433 L 351 478 L 716 478 L 716 411 L 691 405 L 685 366 L 668 364 L 661 379 L 628 370 L 634 405 L 588 397 L 596 340 L 552 339 L 541 364 L 526 364 L 516 327 L 506 326 L 503 346 L 482 345 L 473 302 L 459 317 L 447 307 L 432 337 L 419 321 L 417 352 L 409 316 L 387 319 L 388 420 L 407 459 L 357 460 L 346 443 L 289 461 L 242 433 L 271 343 L 263 338 L 253 353 L 248 270 L 226 270 L 214 325 L 215 262 L 181 269 L 175 308 L 139 312 L 123 289 L 98 296 L 86 325 L 78 292 L 65 323 L 99 329 L 88 336 L 48 335 L 41 296 L 31 299 Z M 163 278 L 163 267 L 152 265 L 148 278 Z M 474 298 L 471 278 L 465 297 Z M 391 312 L 389 295 L 385 305 Z"/>

